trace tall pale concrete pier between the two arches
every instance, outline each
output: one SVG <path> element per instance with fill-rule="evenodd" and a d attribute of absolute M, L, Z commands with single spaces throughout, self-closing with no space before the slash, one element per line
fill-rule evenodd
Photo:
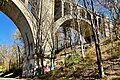
<path fill-rule="evenodd" d="M 44 59 L 46 56 L 46 47 L 49 45 L 51 58 L 54 50 L 54 37 L 53 37 L 53 19 L 49 16 L 49 9 L 43 4 L 43 0 L 36 0 L 32 3 L 32 13 L 36 17 L 36 43 L 35 43 L 35 53 L 37 54 L 37 64 L 41 66 L 41 72 L 44 74 Z M 41 64 L 39 64 L 39 62 Z"/>

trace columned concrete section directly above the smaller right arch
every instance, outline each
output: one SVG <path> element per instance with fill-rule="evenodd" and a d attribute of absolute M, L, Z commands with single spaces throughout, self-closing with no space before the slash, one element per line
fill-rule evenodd
<path fill-rule="evenodd" d="M 79 5 L 71 0 L 62 0 L 61 2 L 60 1 L 59 3 L 62 4 L 59 4 L 59 6 L 57 6 L 58 8 L 56 8 L 55 6 L 55 14 L 57 14 L 55 15 L 55 21 L 65 15 L 74 15 L 77 18 L 84 18 L 86 20 L 90 20 L 90 18 L 93 19 L 93 12 L 89 9 L 86 9 L 82 5 Z M 96 15 L 100 16 L 99 14 Z"/>

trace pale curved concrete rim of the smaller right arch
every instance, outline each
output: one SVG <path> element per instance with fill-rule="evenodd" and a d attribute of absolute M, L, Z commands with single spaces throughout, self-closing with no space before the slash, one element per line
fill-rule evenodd
<path fill-rule="evenodd" d="M 75 16 L 73 16 L 73 15 L 66 15 L 66 16 L 64 16 L 64 17 L 61 17 L 61 18 L 59 18 L 53 25 L 54 25 L 54 33 L 58 30 L 58 28 L 61 26 L 61 25 L 63 25 L 66 21 L 68 21 L 68 20 L 73 20 L 73 19 L 75 19 L 76 17 Z M 91 33 L 91 35 L 92 35 L 92 30 L 91 30 L 91 23 L 90 23 L 90 21 L 89 20 L 86 20 L 85 18 L 82 18 L 82 17 L 77 17 L 77 19 L 79 20 L 79 21 L 82 21 L 83 22 L 83 26 L 85 27 L 85 26 L 87 26 L 87 28 L 89 28 L 90 30 L 87 30 L 86 32 L 88 32 L 88 31 L 90 31 L 90 33 Z M 89 33 L 89 32 L 88 32 Z M 86 34 L 88 34 L 88 33 L 86 33 Z M 86 37 L 88 37 L 88 36 L 86 36 Z"/>

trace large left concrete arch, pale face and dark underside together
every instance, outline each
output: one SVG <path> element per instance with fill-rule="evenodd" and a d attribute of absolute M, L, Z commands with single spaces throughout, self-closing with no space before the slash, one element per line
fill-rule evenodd
<path fill-rule="evenodd" d="M 24 6 L 20 0 L 9 0 L 6 6 L 1 8 L 20 30 L 25 43 L 26 53 L 33 53 L 34 48 L 34 31 L 36 20 L 30 11 Z"/>

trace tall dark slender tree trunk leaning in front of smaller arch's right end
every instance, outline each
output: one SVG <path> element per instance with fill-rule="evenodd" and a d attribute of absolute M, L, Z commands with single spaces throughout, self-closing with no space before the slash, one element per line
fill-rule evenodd
<path fill-rule="evenodd" d="M 86 6 L 86 0 L 84 0 L 84 6 L 87 9 Z M 103 65 L 102 65 L 102 56 L 101 56 L 101 50 L 100 50 L 100 40 L 98 37 L 98 31 L 94 27 L 97 27 L 96 24 L 96 14 L 94 12 L 94 5 L 93 5 L 93 0 L 91 0 L 91 7 L 92 7 L 92 15 L 93 15 L 93 20 L 90 17 L 91 21 L 91 26 L 92 26 L 92 32 L 93 32 L 93 38 L 95 41 L 95 48 L 96 48 L 96 56 L 97 56 L 97 64 L 98 64 L 98 70 L 99 70 L 99 75 L 100 77 L 104 77 L 104 71 L 103 71 Z"/>

